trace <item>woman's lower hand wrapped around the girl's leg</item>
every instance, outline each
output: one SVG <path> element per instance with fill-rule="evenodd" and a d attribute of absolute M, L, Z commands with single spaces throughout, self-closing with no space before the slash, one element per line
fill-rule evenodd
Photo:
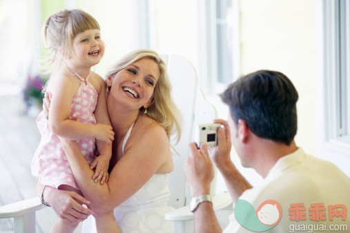
<path fill-rule="evenodd" d="M 48 205 L 52 206 L 61 219 L 67 219 L 72 223 L 84 221 L 90 214 L 93 214 L 92 210 L 81 205 L 90 205 L 90 201 L 76 192 L 56 190 L 47 186 L 44 192 L 44 199 Z"/>

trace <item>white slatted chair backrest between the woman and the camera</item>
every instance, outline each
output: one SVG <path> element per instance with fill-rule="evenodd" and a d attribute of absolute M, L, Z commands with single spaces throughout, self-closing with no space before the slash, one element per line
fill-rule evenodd
<path fill-rule="evenodd" d="M 189 155 L 188 143 L 194 139 L 197 124 L 212 123 L 213 119 L 217 118 L 217 113 L 215 107 L 206 100 L 202 90 L 197 87 L 197 73 L 191 62 L 175 54 L 166 54 L 161 57 L 168 68 L 173 87 L 173 99 L 183 117 L 182 137 L 177 145 L 171 141 L 179 156 L 174 153 L 175 170 L 169 176 L 168 182 L 171 190 L 169 205 L 179 208 L 188 205 L 191 199 L 184 173 L 184 163 Z M 211 189 L 211 194 L 215 194 L 215 181 Z"/>

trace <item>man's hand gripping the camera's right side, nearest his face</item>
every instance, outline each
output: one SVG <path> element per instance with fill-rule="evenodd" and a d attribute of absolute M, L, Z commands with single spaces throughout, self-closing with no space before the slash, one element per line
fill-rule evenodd
<path fill-rule="evenodd" d="M 220 123 L 224 128 L 217 130 L 217 146 L 211 151 L 211 159 L 217 165 L 217 168 L 223 168 L 224 165 L 231 163 L 231 134 L 227 121 L 215 119 L 214 123 Z"/>

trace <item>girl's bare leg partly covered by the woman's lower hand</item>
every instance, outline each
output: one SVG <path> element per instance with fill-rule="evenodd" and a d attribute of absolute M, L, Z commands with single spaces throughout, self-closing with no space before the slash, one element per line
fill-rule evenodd
<path fill-rule="evenodd" d="M 72 188 L 69 185 L 59 185 L 59 190 L 67 190 L 67 191 L 74 191 L 77 192 L 77 194 L 84 196 L 80 190 L 77 190 L 75 188 Z M 77 201 L 79 203 L 79 201 Z M 81 203 L 79 203 L 81 204 Z M 71 221 L 69 221 L 68 219 L 57 219 L 57 221 L 55 221 L 55 223 L 52 225 L 50 233 L 70 233 L 70 232 L 74 232 L 75 228 L 77 228 L 77 226 L 79 225 L 79 223 L 72 223 Z"/>

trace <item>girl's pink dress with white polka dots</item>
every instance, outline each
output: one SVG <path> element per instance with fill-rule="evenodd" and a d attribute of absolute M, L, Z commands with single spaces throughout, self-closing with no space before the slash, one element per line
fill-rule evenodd
<path fill-rule="evenodd" d="M 94 111 L 98 94 L 93 85 L 88 82 L 90 74 L 84 80 L 77 72 L 74 70 L 73 72 L 81 80 L 81 84 L 72 100 L 70 119 L 74 114 L 79 113 L 78 121 L 95 125 Z M 57 135 L 50 132 L 43 112 L 37 118 L 37 125 L 41 133 L 41 141 L 32 159 L 32 174 L 37 176 L 42 185 L 49 185 L 53 188 L 59 188 L 59 185 L 70 185 L 79 190 L 61 143 Z M 93 163 L 97 155 L 95 139 L 77 140 L 77 143 L 88 164 Z"/>

